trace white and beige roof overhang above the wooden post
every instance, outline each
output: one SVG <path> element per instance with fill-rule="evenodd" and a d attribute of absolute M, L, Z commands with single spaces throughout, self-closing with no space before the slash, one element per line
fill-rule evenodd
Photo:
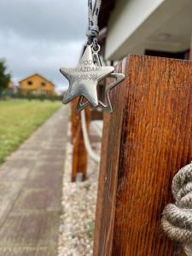
<path fill-rule="evenodd" d="M 102 3 L 100 20 L 102 26 L 108 24 L 106 59 L 143 54 L 144 49 L 172 52 L 189 49 L 191 0 L 119 0 L 105 20 L 104 4 L 107 3 Z"/>

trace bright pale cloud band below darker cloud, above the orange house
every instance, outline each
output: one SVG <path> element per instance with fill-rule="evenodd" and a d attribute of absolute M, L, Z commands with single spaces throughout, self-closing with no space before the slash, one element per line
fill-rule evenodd
<path fill-rule="evenodd" d="M 8 41 L 0 36 L 0 55 L 6 56 L 9 71 L 16 82 L 32 73 L 40 73 L 56 85 L 67 86 L 59 68 L 73 67 L 79 60 L 82 45 L 82 41 L 39 45 L 37 42 L 20 40 L 15 36 L 9 37 Z"/>

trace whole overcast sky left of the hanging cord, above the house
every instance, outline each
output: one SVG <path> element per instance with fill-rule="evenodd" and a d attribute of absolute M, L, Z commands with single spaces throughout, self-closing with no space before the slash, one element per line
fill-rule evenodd
<path fill-rule="evenodd" d="M 85 42 L 87 0 L 0 0 L 0 58 L 14 82 L 40 73 L 67 86 L 60 67 L 73 67 Z"/>

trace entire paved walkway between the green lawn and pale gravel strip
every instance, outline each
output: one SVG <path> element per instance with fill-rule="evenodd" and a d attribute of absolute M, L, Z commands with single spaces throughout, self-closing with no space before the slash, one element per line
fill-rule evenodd
<path fill-rule="evenodd" d="M 55 256 L 68 108 L 55 113 L 0 167 L 0 255 Z"/>

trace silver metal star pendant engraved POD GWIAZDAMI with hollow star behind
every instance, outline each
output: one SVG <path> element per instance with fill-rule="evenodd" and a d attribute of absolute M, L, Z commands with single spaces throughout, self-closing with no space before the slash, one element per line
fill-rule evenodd
<path fill-rule="evenodd" d="M 61 73 L 69 81 L 69 88 L 63 98 L 63 103 L 71 102 L 75 97 L 80 96 L 77 109 L 80 111 L 92 104 L 94 107 L 100 106 L 103 110 L 110 113 L 113 112 L 111 106 L 109 91 L 120 81 L 125 79 L 124 74 L 113 73 L 113 67 L 103 67 L 96 52 L 92 51 L 91 46 L 88 45 L 84 50 L 79 66 L 75 68 L 61 67 Z M 114 82 L 108 86 L 105 92 L 106 102 L 105 105 L 98 99 L 97 84 L 99 81 L 106 77 L 114 78 Z M 84 97 L 88 102 L 84 102 Z"/>

